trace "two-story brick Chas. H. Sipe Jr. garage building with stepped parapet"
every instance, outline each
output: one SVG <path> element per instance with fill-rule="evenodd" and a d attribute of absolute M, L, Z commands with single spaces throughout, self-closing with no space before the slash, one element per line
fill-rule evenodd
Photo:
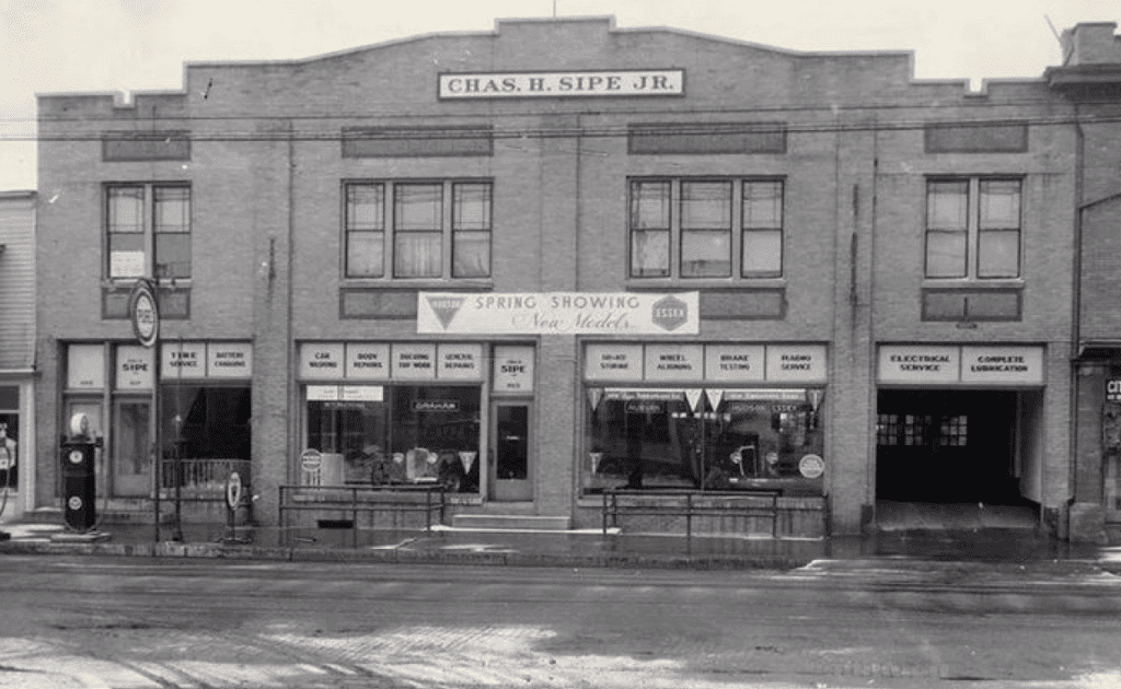
<path fill-rule="evenodd" d="M 36 504 L 84 411 L 136 509 L 158 427 L 250 459 L 263 523 L 314 448 L 328 483 L 444 467 L 461 522 L 765 486 L 787 533 L 927 502 L 1065 536 L 1073 113 L 603 18 L 40 96 Z"/>

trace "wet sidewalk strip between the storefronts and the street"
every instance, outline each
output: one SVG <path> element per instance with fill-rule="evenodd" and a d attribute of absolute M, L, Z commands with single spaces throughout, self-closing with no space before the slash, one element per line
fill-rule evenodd
<path fill-rule="evenodd" d="M 932 532 L 923 537 L 881 533 L 850 539 L 769 539 L 736 536 L 619 533 L 609 530 L 515 531 L 435 527 L 430 532 L 308 529 L 280 541 L 276 528 L 184 524 L 183 539 L 163 524 L 112 523 L 92 534 L 62 524 L 0 524 L 11 538 L 2 553 L 194 557 L 277 561 L 493 565 L 521 567 L 618 567 L 789 570 L 815 561 L 862 561 L 900 567 L 916 561 L 988 562 L 1018 570 L 1121 575 L 1121 548 L 1040 539 L 1030 533 Z M 94 536 L 99 538 L 93 538 Z"/>

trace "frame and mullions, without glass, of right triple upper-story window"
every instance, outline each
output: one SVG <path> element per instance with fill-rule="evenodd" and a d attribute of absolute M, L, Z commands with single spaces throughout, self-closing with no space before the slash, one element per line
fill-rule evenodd
<path fill-rule="evenodd" d="M 750 226 L 744 222 L 744 195 L 752 184 L 773 184 L 778 189 L 778 217 L 772 226 Z M 726 185 L 729 222 L 726 227 L 685 227 L 685 192 L 691 184 Z M 643 185 L 665 185 L 668 188 L 668 227 L 645 226 L 639 215 L 639 189 Z M 786 216 L 787 216 L 787 178 L 785 175 L 719 175 L 719 176 L 633 176 L 627 179 L 627 267 L 628 281 L 654 282 L 670 281 L 688 285 L 704 282 L 715 283 L 757 283 L 765 280 L 785 278 L 786 269 Z M 778 233 L 778 255 L 776 270 L 748 270 L 743 250 L 745 240 L 751 232 Z M 686 238 L 689 234 L 726 233 L 728 270 L 723 274 L 687 274 L 685 270 Z M 665 233 L 665 262 L 658 267 L 643 269 L 638 259 L 637 238 Z M 664 268 L 663 268 L 664 267 Z"/>

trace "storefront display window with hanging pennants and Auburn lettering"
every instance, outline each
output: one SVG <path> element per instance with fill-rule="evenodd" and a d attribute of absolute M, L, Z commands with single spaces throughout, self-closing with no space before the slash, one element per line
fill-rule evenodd
<path fill-rule="evenodd" d="M 732 395 L 729 395 L 732 397 Z M 745 395 L 750 397 L 750 395 Z M 592 397 L 594 399 L 594 395 Z M 819 491 L 802 476 L 822 454 L 818 416 L 806 401 L 729 400 L 694 411 L 676 399 L 589 402 L 584 490 L 606 487 L 735 490 L 781 485 Z"/>

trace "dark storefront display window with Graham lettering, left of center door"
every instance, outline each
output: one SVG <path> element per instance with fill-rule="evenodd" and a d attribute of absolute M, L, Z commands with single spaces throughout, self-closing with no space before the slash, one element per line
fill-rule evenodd
<path fill-rule="evenodd" d="M 307 402 L 307 446 L 342 456 L 344 483 L 479 491 L 479 387 L 369 389 L 377 394 Z"/>

